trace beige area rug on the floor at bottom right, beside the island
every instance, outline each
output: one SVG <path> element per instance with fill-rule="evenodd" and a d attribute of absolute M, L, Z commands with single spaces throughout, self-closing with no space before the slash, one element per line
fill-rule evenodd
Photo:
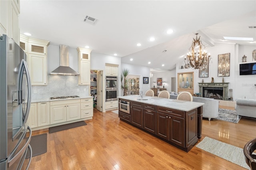
<path fill-rule="evenodd" d="M 208 138 L 207 136 L 196 147 L 250 170 L 250 167 L 244 160 L 242 148 Z"/>

